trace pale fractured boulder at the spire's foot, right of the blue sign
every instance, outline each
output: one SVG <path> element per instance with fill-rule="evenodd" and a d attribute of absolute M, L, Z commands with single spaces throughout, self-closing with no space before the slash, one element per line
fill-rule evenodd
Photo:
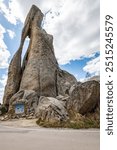
<path fill-rule="evenodd" d="M 40 120 L 47 122 L 61 122 L 69 119 L 61 101 L 52 97 L 40 97 L 36 116 Z"/>

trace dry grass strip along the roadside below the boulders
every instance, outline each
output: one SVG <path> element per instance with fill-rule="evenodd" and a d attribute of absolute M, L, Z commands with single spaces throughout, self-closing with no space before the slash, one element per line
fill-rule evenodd
<path fill-rule="evenodd" d="M 70 112 L 70 119 L 66 122 L 45 122 L 42 120 L 37 120 L 36 123 L 39 126 L 46 128 L 100 128 L 99 115 L 97 116 L 95 113 L 82 116 L 81 114 Z"/>

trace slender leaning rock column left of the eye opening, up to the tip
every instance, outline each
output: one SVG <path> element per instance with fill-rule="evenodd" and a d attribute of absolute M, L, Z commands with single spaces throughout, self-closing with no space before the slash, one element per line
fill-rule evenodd
<path fill-rule="evenodd" d="M 8 80 L 7 80 L 7 84 L 5 87 L 4 98 L 3 98 L 3 103 L 5 105 L 9 105 L 10 98 L 19 90 L 21 76 L 22 76 L 22 68 L 21 68 L 22 49 L 23 49 L 25 38 L 27 36 L 30 36 L 31 23 L 32 23 L 33 17 L 35 16 L 37 12 L 39 14 L 38 17 L 40 17 L 40 15 L 42 15 L 41 11 L 36 6 L 33 5 L 26 18 L 25 25 L 22 30 L 22 36 L 21 36 L 19 49 L 14 55 L 9 65 Z M 40 18 L 39 19 L 41 21 L 42 17 Z M 35 22 L 33 23 L 35 24 Z M 39 20 L 38 20 L 38 23 L 39 23 Z"/>

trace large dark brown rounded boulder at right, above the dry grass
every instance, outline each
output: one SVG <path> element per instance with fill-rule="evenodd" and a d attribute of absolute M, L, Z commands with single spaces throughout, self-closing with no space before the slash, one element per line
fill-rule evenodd
<path fill-rule="evenodd" d="M 97 81 L 87 81 L 71 87 L 71 108 L 81 114 L 95 109 L 100 100 L 100 84 Z"/>

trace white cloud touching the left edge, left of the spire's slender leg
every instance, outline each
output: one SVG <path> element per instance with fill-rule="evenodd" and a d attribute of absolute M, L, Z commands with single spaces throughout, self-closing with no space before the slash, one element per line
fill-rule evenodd
<path fill-rule="evenodd" d="M 8 59 L 10 52 L 7 50 L 7 46 L 4 42 L 5 28 L 0 24 L 0 69 L 8 67 Z"/>

